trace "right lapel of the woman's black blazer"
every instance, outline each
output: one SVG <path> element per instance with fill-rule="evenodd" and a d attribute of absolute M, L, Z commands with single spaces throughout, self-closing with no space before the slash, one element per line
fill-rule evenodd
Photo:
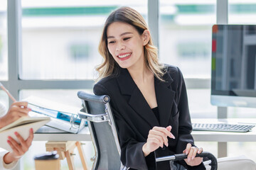
<path fill-rule="evenodd" d="M 171 79 L 168 72 L 164 74 L 164 80 L 165 82 L 162 82 L 155 77 L 156 101 L 159 107 L 160 125 L 166 128 L 169 125 L 168 122 L 171 116 L 171 107 L 174 103 L 175 91 L 171 90 L 170 86 L 174 80 Z"/>

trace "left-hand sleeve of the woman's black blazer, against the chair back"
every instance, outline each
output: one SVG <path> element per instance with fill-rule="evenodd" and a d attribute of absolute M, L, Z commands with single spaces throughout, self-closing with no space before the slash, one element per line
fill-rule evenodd
<path fill-rule="evenodd" d="M 117 126 L 119 143 L 121 147 L 121 162 L 124 166 L 132 169 L 156 169 L 155 155 L 152 152 L 148 157 L 144 157 L 142 146 L 145 142 L 137 142 L 136 132 L 128 125 L 123 116 L 117 111 L 116 102 L 112 98 L 112 94 L 102 84 L 95 84 L 93 88 L 95 95 L 110 96 L 112 113 Z M 116 99 L 117 100 L 117 99 Z M 152 162 L 152 160 L 154 160 Z M 149 166 L 150 165 L 150 166 Z"/>

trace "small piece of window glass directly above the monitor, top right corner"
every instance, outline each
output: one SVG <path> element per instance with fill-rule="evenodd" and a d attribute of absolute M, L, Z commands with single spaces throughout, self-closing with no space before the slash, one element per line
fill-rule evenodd
<path fill-rule="evenodd" d="M 256 24 L 256 1 L 228 0 L 229 24 Z"/>

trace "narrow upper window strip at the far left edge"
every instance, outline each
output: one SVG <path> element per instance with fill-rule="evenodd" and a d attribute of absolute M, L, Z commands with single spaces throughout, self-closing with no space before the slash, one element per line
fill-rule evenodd
<path fill-rule="evenodd" d="M 0 80 L 8 79 L 7 1 L 0 1 Z"/>

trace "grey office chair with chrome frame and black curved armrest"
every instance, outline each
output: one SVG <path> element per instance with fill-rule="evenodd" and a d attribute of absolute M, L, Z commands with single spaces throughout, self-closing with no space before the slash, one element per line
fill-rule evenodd
<path fill-rule="evenodd" d="M 87 120 L 92 143 L 95 147 L 92 169 L 129 169 L 129 167 L 123 166 L 120 161 L 121 149 L 110 107 L 110 97 L 87 94 L 84 91 L 78 91 L 78 97 L 82 100 L 83 106 L 78 115 Z M 211 160 L 211 169 L 217 169 L 217 159 L 213 154 L 202 152 L 196 157 L 207 157 Z M 178 161 L 186 158 L 186 154 L 174 154 L 156 158 L 156 162 Z"/>

